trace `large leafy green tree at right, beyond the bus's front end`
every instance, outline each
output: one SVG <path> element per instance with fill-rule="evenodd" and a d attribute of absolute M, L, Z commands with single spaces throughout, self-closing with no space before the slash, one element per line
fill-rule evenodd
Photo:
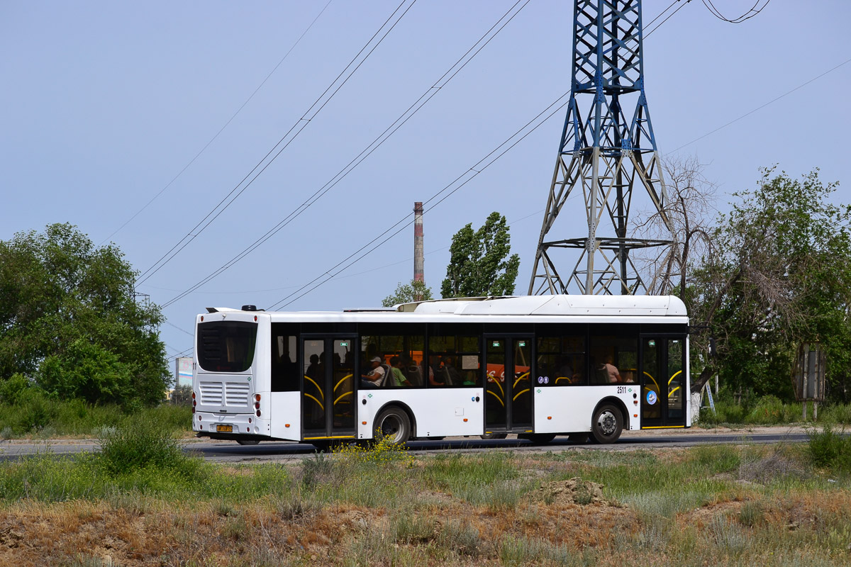
<path fill-rule="evenodd" d="M 789 399 L 804 341 L 825 345 L 829 384 L 842 388 L 851 371 L 851 207 L 831 204 L 837 184 L 818 171 L 800 180 L 762 173 L 722 215 L 688 289 L 692 319 L 718 353 L 694 389 L 718 371 L 734 390 Z"/>

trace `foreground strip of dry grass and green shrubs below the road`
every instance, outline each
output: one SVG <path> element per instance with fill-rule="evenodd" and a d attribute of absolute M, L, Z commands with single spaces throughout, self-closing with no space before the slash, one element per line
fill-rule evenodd
<path fill-rule="evenodd" d="M 132 419 L 0 463 L 0 564 L 846 565 L 851 440 L 230 466 Z"/>

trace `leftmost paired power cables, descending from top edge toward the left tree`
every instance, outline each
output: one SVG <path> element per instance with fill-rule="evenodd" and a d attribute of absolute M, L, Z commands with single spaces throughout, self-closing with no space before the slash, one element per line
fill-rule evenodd
<path fill-rule="evenodd" d="M 400 11 L 400 9 L 402 9 L 403 5 L 405 3 L 408 3 L 408 2 L 410 2 L 408 4 L 408 7 L 404 9 L 402 14 L 399 14 L 396 17 L 396 14 Z M 168 262 L 171 261 L 172 258 L 174 258 L 178 253 L 180 253 L 180 251 L 182 251 L 184 248 L 186 248 L 186 246 L 188 246 L 191 241 L 194 241 L 197 238 L 197 236 L 200 235 L 203 232 L 203 230 L 205 230 L 210 224 L 212 224 L 214 222 L 214 220 L 216 218 L 218 218 L 219 215 L 227 209 L 227 207 L 230 207 L 231 203 L 233 203 L 233 201 L 236 201 L 237 198 L 239 196 L 241 196 L 243 194 L 243 192 L 246 189 L 248 189 L 248 187 L 251 184 L 254 183 L 254 180 L 257 179 L 260 176 L 261 173 L 266 171 L 266 168 L 269 167 L 271 165 L 271 163 L 274 162 L 277 159 L 277 157 L 281 155 L 283 150 L 286 150 L 288 148 L 288 146 L 294 141 L 294 139 L 296 139 L 299 136 L 299 134 L 302 132 L 302 130 L 304 130 L 307 127 L 307 125 L 311 122 L 311 120 L 313 118 L 315 118 L 319 114 L 320 111 L 323 110 L 323 108 L 325 107 L 325 105 L 328 104 L 330 99 L 334 98 L 334 95 L 337 94 L 340 91 L 340 88 L 342 88 L 343 85 L 346 84 L 346 82 L 348 82 L 348 80 L 351 78 L 351 76 L 354 75 L 355 71 L 357 71 L 357 69 L 359 69 L 360 66 L 363 65 L 363 62 L 366 61 L 369 58 L 369 55 L 371 55 L 374 52 L 375 48 L 378 48 L 378 46 L 381 44 L 381 42 L 384 41 L 385 37 L 387 37 L 387 35 L 391 31 L 393 31 L 393 29 L 397 26 L 399 21 L 401 21 L 402 18 L 404 17 L 404 15 L 408 13 L 408 10 L 411 9 L 414 6 L 414 3 L 416 3 L 416 0 L 403 0 L 403 2 L 400 3 L 397 6 L 397 9 L 395 9 L 393 11 L 393 13 L 384 22 L 384 24 L 382 24 L 380 26 L 378 31 L 375 31 L 373 36 L 370 37 L 369 41 L 363 45 L 363 48 L 361 48 L 361 50 L 357 52 L 357 54 L 351 59 L 349 64 L 346 65 L 346 67 L 343 69 L 343 71 L 340 71 L 340 75 L 338 75 L 334 79 L 334 81 L 331 82 L 331 84 L 328 85 L 328 88 L 326 88 L 325 91 L 323 92 L 323 94 L 321 94 L 313 102 L 313 104 L 310 106 L 310 108 L 307 109 L 307 111 L 304 113 L 304 115 L 302 115 L 299 118 L 299 120 L 294 122 L 293 126 L 289 128 L 287 133 L 285 133 L 280 140 L 278 140 L 277 144 L 272 146 L 271 150 L 269 150 L 268 153 L 266 153 L 266 156 L 264 156 L 260 160 L 260 162 L 258 162 L 251 169 L 251 171 L 248 172 L 248 174 L 224 198 L 222 198 L 222 200 L 219 201 L 219 203 L 212 210 L 210 210 L 204 216 L 204 218 L 202 218 L 189 231 L 189 233 L 186 236 L 184 236 L 182 239 L 180 239 L 180 241 L 177 244 L 175 244 L 174 247 L 171 247 L 171 249 L 168 252 L 163 254 L 163 256 L 160 257 L 157 260 L 157 262 L 152 264 L 150 268 L 148 268 L 144 272 L 142 272 L 139 275 L 139 277 L 136 279 L 137 285 L 146 281 L 148 278 L 151 277 L 151 275 L 156 274 L 157 271 L 159 271 L 159 269 L 162 269 L 165 264 L 168 264 Z M 390 21 L 393 20 L 394 17 L 396 17 L 395 21 L 393 21 L 391 26 L 387 27 L 388 23 L 390 23 Z M 380 39 L 377 42 L 375 42 L 374 45 L 372 45 L 372 48 L 370 48 L 369 51 L 363 56 L 363 59 L 358 61 L 361 54 L 363 54 L 363 52 L 367 48 L 369 48 L 369 46 L 373 43 L 375 37 L 378 37 L 379 34 L 381 33 L 381 31 L 384 30 L 385 28 L 387 28 L 387 29 L 384 32 L 384 34 L 380 37 Z M 356 62 L 357 62 L 357 64 L 356 64 Z M 353 68 L 352 68 L 352 66 L 353 66 Z M 340 77 L 343 77 L 343 75 L 346 74 L 346 71 L 348 71 L 350 68 L 351 68 L 351 71 L 349 71 L 349 73 L 342 80 L 342 82 L 340 82 Z M 338 82 L 340 82 L 340 84 L 337 84 Z M 337 85 L 337 87 L 334 88 L 334 85 Z M 330 91 L 332 88 L 334 88 L 334 90 L 330 94 L 328 94 L 328 91 Z M 327 97 L 326 97 L 326 94 L 328 94 Z M 318 105 L 318 108 L 316 108 L 317 105 Z M 313 110 L 314 108 L 316 108 L 315 111 Z M 310 116 L 308 116 L 308 115 L 310 115 Z M 290 133 L 293 133 L 293 135 L 290 136 Z M 284 140 L 287 140 L 287 142 L 284 143 Z M 279 147 L 280 147 L 280 149 L 278 149 Z M 268 161 L 267 161 L 267 158 L 269 156 L 271 156 L 272 152 L 274 152 L 275 150 L 277 150 L 277 153 L 274 156 L 272 156 L 271 159 L 268 159 Z M 265 163 L 265 165 L 264 165 L 264 163 Z M 259 171 L 258 171 L 258 168 L 260 168 Z M 256 174 L 254 174 L 254 177 L 251 178 L 251 180 L 248 181 L 248 183 L 245 183 L 246 179 L 251 177 L 252 173 L 254 173 L 254 172 L 257 172 Z M 244 184 L 244 186 L 243 186 L 243 184 Z M 239 189 L 240 186 L 243 186 L 242 189 Z M 238 192 L 237 192 L 237 190 L 238 190 Z M 205 224 L 205 221 L 206 221 L 206 224 Z M 200 227 L 200 229 L 199 229 L 199 227 Z"/>

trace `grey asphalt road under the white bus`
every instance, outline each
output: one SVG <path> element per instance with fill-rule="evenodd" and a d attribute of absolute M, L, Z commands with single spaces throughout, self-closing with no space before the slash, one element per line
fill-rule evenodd
<path fill-rule="evenodd" d="M 625 432 L 612 445 L 577 445 L 566 437 L 557 437 L 546 445 L 533 445 L 520 439 L 478 439 L 448 437 L 441 441 L 411 441 L 408 451 L 412 454 L 437 452 L 478 452 L 493 449 L 511 451 L 630 451 L 661 447 L 689 447 L 718 443 L 799 443 L 807 440 L 802 428 L 747 428 L 731 429 L 673 429 Z M 53 439 L 45 441 L 14 440 L 0 444 L 0 460 L 14 460 L 22 456 L 48 453 L 72 455 L 83 451 L 96 451 L 93 439 Z M 186 451 L 201 455 L 214 462 L 291 462 L 300 461 L 317 451 L 313 445 L 293 441 L 269 441 L 260 445 L 237 445 L 236 441 L 214 441 L 210 439 L 187 439 Z"/>

